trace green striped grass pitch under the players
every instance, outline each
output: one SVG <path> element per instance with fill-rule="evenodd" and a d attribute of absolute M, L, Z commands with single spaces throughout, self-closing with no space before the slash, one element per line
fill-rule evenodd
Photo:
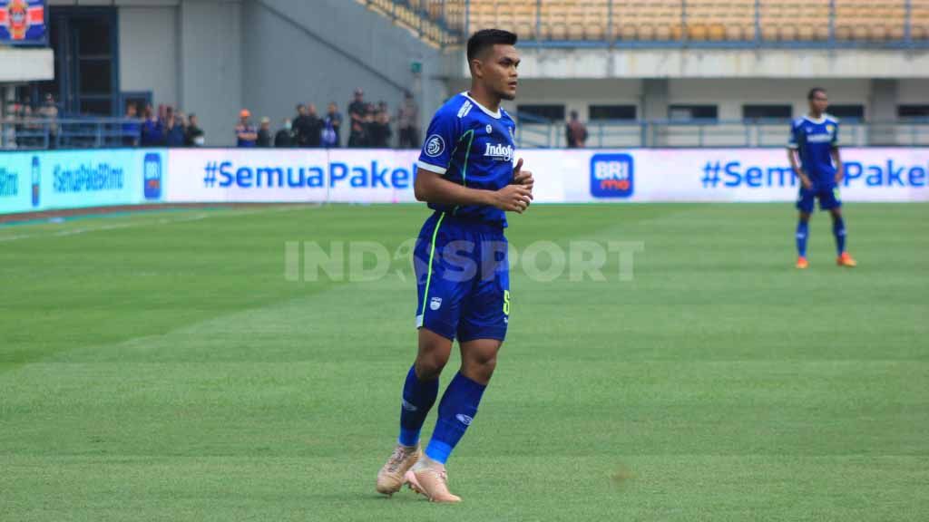
<path fill-rule="evenodd" d="M 393 249 L 424 207 L 0 227 L 0 520 L 926 520 L 929 206 L 845 212 L 859 267 L 835 266 L 818 214 L 805 272 L 789 203 L 513 216 L 518 249 L 645 251 L 633 281 L 615 258 L 608 281 L 513 274 L 457 506 L 373 490 L 412 281 L 284 277 L 287 241 Z"/>

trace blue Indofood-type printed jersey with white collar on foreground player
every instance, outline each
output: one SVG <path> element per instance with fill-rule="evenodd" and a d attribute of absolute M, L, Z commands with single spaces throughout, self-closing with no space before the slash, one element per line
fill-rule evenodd
<path fill-rule="evenodd" d="M 467 93 L 456 95 L 432 117 L 417 166 L 464 187 L 503 189 L 513 180 L 516 126 L 503 109 L 493 112 Z M 429 208 L 506 226 L 504 211 L 488 205 L 429 203 Z"/>

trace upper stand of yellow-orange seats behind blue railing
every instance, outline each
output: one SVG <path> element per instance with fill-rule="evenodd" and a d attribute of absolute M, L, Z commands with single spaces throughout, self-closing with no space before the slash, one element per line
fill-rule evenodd
<path fill-rule="evenodd" d="M 929 0 L 358 0 L 438 46 L 929 47 Z"/>

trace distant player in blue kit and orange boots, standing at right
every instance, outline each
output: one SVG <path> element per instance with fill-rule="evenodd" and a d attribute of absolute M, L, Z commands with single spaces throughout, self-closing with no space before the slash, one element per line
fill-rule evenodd
<path fill-rule="evenodd" d="M 839 198 L 839 183 L 844 175 L 842 158 L 839 156 L 839 121 L 826 113 L 829 98 L 826 89 L 810 89 L 809 114 L 793 121 L 787 155 L 791 159 L 794 174 L 800 178 L 800 195 L 797 208 L 800 222 L 797 224 L 797 268 L 809 267 L 806 261 L 806 240 L 809 238 L 809 220 L 813 204 L 819 200 L 819 209 L 832 215 L 832 234 L 838 252 L 836 263 L 840 267 L 855 267 L 857 263 L 845 251 L 845 222 L 842 218 L 842 200 Z M 797 155 L 800 161 L 797 161 Z"/>

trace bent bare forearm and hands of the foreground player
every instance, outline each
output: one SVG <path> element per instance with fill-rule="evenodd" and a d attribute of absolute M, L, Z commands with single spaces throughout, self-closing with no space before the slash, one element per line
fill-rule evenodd
<path fill-rule="evenodd" d="M 507 185 L 500 190 L 469 189 L 423 168 L 416 169 L 416 181 L 412 187 L 416 200 L 420 202 L 489 205 L 519 214 L 532 201 L 532 189 L 524 185 Z"/>

